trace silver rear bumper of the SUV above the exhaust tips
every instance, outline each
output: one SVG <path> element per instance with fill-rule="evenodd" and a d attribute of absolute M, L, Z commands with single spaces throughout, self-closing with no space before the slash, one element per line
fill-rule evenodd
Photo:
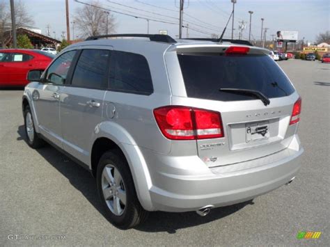
<path fill-rule="evenodd" d="M 161 172 L 149 190 L 153 209 L 188 212 L 206 205 L 222 207 L 256 198 L 292 180 L 300 168 L 299 157 L 303 152 L 301 147 L 298 150 L 288 148 L 278 152 L 275 159 L 272 154 L 246 162 L 249 168 L 241 163 L 241 170 L 228 166 L 207 168 L 210 174 L 205 175 Z"/>

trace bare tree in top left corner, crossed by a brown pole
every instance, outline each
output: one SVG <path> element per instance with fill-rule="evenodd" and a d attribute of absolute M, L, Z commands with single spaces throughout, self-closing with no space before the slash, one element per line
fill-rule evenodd
<path fill-rule="evenodd" d="M 5 31 L 12 29 L 10 7 L 8 3 L 9 1 L 0 0 L 0 46 L 4 46 Z M 15 2 L 15 21 L 17 28 L 33 25 L 34 23 L 22 1 Z"/>

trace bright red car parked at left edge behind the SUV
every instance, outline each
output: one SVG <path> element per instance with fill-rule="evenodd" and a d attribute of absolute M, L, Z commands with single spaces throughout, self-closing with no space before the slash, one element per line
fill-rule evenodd
<path fill-rule="evenodd" d="M 29 70 L 45 70 L 55 56 L 33 49 L 0 50 L 0 87 L 22 87 Z"/>

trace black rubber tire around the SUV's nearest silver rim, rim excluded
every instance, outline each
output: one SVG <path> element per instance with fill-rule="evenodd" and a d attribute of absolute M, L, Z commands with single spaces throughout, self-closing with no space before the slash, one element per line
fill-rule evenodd
<path fill-rule="evenodd" d="M 102 173 L 105 166 L 107 165 L 111 165 L 119 171 L 122 178 L 123 186 L 125 188 L 126 204 L 125 208 L 123 209 L 123 213 L 119 216 L 111 212 L 111 209 L 109 208 L 103 196 Z M 127 161 L 123 154 L 120 152 L 120 150 L 110 150 L 102 155 L 97 166 L 96 182 L 97 192 L 99 193 L 102 207 L 104 207 L 107 219 L 113 225 L 115 225 L 117 228 L 125 230 L 133 228 L 134 226 L 139 225 L 139 223 L 142 223 L 146 220 L 146 218 L 148 217 L 148 212 L 143 209 L 139 202 L 139 199 L 136 196 L 136 190 L 132 174 L 129 170 Z"/>

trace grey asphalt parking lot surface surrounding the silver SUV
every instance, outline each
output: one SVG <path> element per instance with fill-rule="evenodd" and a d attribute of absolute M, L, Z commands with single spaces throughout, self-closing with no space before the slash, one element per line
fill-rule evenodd
<path fill-rule="evenodd" d="M 25 143 L 22 90 L 0 91 L 0 246 L 330 244 L 330 64 L 280 61 L 303 100 L 299 136 L 305 152 L 290 186 L 253 202 L 194 212 L 152 212 L 138 228 L 118 230 L 103 216 L 88 171 L 47 146 Z M 299 231 L 322 232 L 297 239 Z M 10 239 L 9 234 L 42 239 Z M 65 239 L 48 239 L 51 236 Z M 47 239 L 46 239 L 47 238 Z"/>

